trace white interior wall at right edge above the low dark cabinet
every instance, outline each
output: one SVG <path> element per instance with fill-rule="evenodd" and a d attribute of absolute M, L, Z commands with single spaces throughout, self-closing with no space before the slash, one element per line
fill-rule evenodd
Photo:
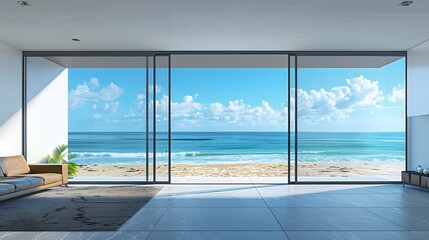
<path fill-rule="evenodd" d="M 408 51 L 408 169 L 429 168 L 429 42 Z"/>

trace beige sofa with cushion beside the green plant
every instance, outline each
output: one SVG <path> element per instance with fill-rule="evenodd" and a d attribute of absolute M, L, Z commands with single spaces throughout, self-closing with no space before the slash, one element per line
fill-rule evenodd
<path fill-rule="evenodd" d="M 0 157 L 0 201 L 67 183 L 67 164 L 27 164 L 22 155 Z"/>

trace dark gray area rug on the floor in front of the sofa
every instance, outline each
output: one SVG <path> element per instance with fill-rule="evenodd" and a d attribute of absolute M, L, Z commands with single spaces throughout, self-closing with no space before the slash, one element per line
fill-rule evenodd
<path fill-rule="evenodd" d="M 69 186 L 0 203 L 0 231 L 115 231 L 160 186 Z"/>

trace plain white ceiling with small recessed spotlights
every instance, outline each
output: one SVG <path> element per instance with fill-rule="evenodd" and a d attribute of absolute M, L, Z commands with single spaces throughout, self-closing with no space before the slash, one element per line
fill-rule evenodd
<path fill-rule="evenodd" d="M 27 51 L 397 51 L 429 39 L 428 0 L 27 1 L 0 1 L 0 41 Z"/>

